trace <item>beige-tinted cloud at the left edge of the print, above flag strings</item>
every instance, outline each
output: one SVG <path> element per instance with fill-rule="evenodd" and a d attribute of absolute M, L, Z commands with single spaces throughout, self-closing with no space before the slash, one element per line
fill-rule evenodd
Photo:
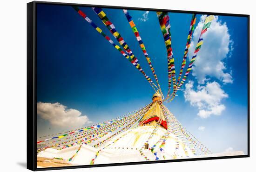
<path fill-rule="evenodd" d="M 56 103 L 37 103 L 37 115 L 42 119 L 49 121 L 53 126 L 75 128 L 81 127 L 86 123 L 91 123 L 86 115 L 81 112 Z"/>

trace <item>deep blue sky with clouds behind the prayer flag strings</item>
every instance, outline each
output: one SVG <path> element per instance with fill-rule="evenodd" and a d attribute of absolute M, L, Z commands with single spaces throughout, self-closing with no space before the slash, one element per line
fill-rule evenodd
<path fill-rule="evenodd" d="M 81 10 L 115 42 L 91 8 Z M 139 59 L 142 69 L 154 80 L 122 10 L 103 10 Z M 167 94 L 167 53 L 156 13 L 128 11 L 151 57 L 163 93 Z M 169 17 L 179 73 L 192 15 L 169 13 Z M 197 41 L 196 31 L 201 31 L 201 17 L 197 15 L 193 42 Z M 247 46 L 247 18 L 216 16 L 189 82 L 177 92 L 174 101 L 165 103 L 212 152 L 229 149 L 247 153 Z M 43 4 L 37 6 L 37 89 L 37 102 L 48 103 L 42 106 L 57 107 L 58 112 L 62 110 L 77 120 L 61 126 L 61 121 L 68 121 L 65 117 L 58 120 L 40 112 L 38 136 L 124 115 L 151 102 L 154 94 L 144 76 L 72 7 Z M 218 113 L 211 111 L 216 108 Z M 202 110 L 204 115 L 199 113 Z"/>

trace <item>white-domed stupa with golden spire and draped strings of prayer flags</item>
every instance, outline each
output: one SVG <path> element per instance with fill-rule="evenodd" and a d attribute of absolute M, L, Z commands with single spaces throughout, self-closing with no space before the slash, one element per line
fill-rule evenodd
<path fill-rule="evenodd" d="M 98 130 L 106 133 L 96 132 Z M 38 144 L 39 167 L 227 155 L 212 154 L 190 134 L 163 105 L 158 91 L 152 103 L 132 115 L 69 132 Z M 67 137 L 66 141 L 58 140 L 63 137 Z M 57 140 L 50 141 L 54 139 Z"/>

